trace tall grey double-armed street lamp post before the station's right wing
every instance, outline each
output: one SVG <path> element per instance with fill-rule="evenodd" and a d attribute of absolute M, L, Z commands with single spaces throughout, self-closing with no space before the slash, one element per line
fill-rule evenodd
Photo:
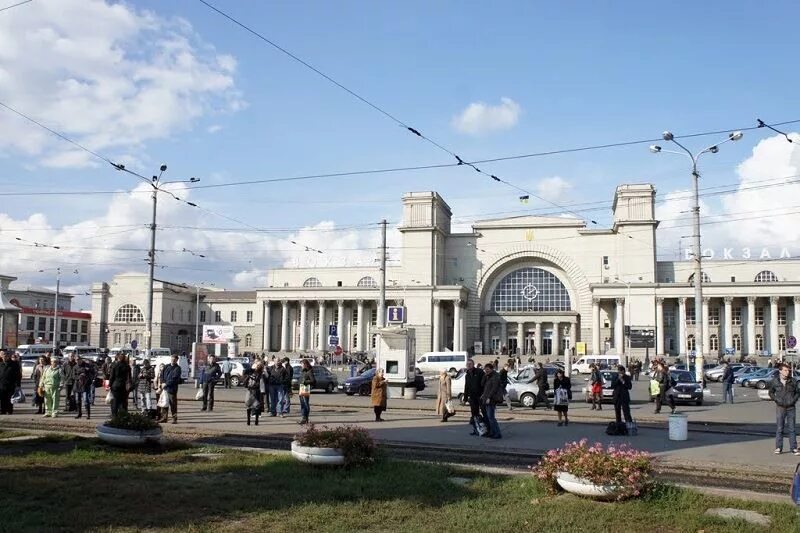
<path fill-rule="evenodd" d="M 678 155 L 687 155 L 692 162 L 692 188 L 694 192 L 694 205 L 692 206 L 692 217 L 694 219 L 694 235 L 692 235 L 694 240 L 693 246 L 693 253 L 694 256 L 694 319 L 695 319 L 695 349 L 697 353 L 697 357 L 695 358 L 695 379 L 698 382 L 703 380 L 703 352 L 705 350 L 705 346 L 703 346 L 703 253 L 702 248 L 700 247 L 700 194 L 699 194 L 699 180 L 700 180 L 700 173 L 697 170 L 697 160 L 700 159 L 700 156 L 705 153 L 716 154 L 719 152 L 719 146 L 724 144 L 728 141 L 738 141 L 743 136 L 741 131 L 736 131 L 733 133 L 728 134 L 728 138 L 723 140 L 720 143 L 714 144 L 701 150 L 696 155 L 693 154 L 688 148 L 684 145 L 679 143 L 675 136 L 669 132 L 665 131 L 662 135 L 665 141 L 673 142 L 678 145 L 683 152 L 673 151 L 673 150 L 662 150 L 658 145 L 650 146 L 650 151 L 657 154 L 661 152 L 667 152 L 670 154 L 678 154 Z M 685 153 L 684 153 L 685 152 Z M 727 347 L 726 347 L 727 348 Z M 687 364 L 687 369 L 689 368 Z"/>

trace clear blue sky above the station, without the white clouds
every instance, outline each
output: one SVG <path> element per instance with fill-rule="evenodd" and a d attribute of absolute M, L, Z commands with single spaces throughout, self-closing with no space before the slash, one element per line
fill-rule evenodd
<path fill-rule="evenodd" d="M 42 3 L 35 0 L 0 12 L 0 30 L 6 19 L 6 24 L 13 24 L 17 30 L 11 38 L 29 39 L 33 28 L 41 29 L 49 23 L 48 17 L 54 17 L 52 12 L 43 11 Z M 62 4 L 64 10 L 74 7 L 69 0 L 55 3 Z M 99 0 L 90 3 L 102 4 Z M 795 68 L 798 52 L 793 39 L 796 21 L 800 20 L 796 2 L 390 4 L 217 0 L 216 4 L 465 159 L 656 138 L 664 129 L 679 134 L 752 126 L 756 117 L 776 122 L 800 119 L 800 71 Z M 101 7 L 98 17 L 107 15 Z M 134 37 L 130 40 L 112 39 L 110 50 L 146 63 L 157 56 L 148 51 L 146 43 L 152 39 L 146 37 L 176 32 L 190 36 L 191 53 L 197 58 L 212 63 L 215 60 L 209 58 L 213 56 L 235 59 L 235 69 L 223 73 L 230 83 L 191 96 L 190 109 L 201 110 L 185 121 L 171 118 L 169 127 L 159 125 L 160 115 L 169 114 L 166 107 L 143 109 L 120 102 L 125 114 L 144 117 L 137 124 L 141 126 L 138 131 L 163 131 L 152 136 L 141 133 L 141 138 L 127 145 L 108 144 L 99 150 L 115 160 L 129 161 L 131 168 L 146 175 L 165 162 L 169 176 L 197 176 L 201 185 L 210 185 L 452 162 L 443 152 L 200 2 L 137 1 L 118 7 L 140 16 L 149 12 L 148 16 L 162 26 L 155 33 L 147 24 L 137 26 L 131 29 Z M 61 24 L 68 33 L 66 18 Z M 177 19 L 185 20 L 191 28 Z M 97 21 L 102 25 L 102 18 Z M 78 26 L 81 20 L 75 18 L 74 22 Z M 86 31 L 91 33 L 92 28 Z M 36 49 L 36 57 L 26 61 L 43 60 L 46 65 L 48 53 L 47 46 L 42 46 Z M 0 101 L 15 104 L 86 144 L 93 140 L 92 127 L 107 126 L 102 120 L 92 123 L 86 119 L 78 127 L 75 120 L 83 118 L 71 121 L 68 115 L 40 114 L 44 108 L 23 94 L 26 87 L 4 84 L 3 80 L 9 79 L 2 75 L 4 67 L 7 76 L 14 77 L 11 67 L 20 64 L 19 59 L 4 64 L 4 59 L 0 52 Z M 56 81 L 80 80 L 78 59 L 76 63 L 78 66 Z M 33 83 L 41 81 L 42 76 L 47 79 L 47 75 L 52 72 L 40 76 L 31 67 L 26 80 Z M 95 83 L 113 83 L 113 79 L 110 75 Z M 64 95 L 60 85 L 50 94 L 47 89 L 46 84 L 39 84 L 35 92 L 48 105 Z M 454 127 L 454 117 L 470 104 L 497 106 L 501 98 L 511 99 L 518 106 L 513 125 L 483 134 L 465 134 Z M 23 108 L 23 104 L 32 107 Z M 9 138 L 26 134 L 24 128 L 35 127 L 6 121 L 7 117 L 8 112 L 0 110 L 0 190 L 124 190 L 135 185 L 133 179 L 107 166 L 87 167 L 82 163 L 75 168 L 54 168 L 43 164 L 48 152 L 64 149 L 59 147 L 60 141 L 44 143 L 38 150 L 21 149 Z M 9 131 L 12 124 L 13 132 Z M 753 148 L 769 137 L 767 133 L 747 132 L 739 143 L 726 144 L 719 154 L 706 159 L 702 167 L 704 186 L 742 181 L 737 165 L 752 157 Z M 108 133 L 115 134 L 113 128 Z M 705 147 L 719 138 L 688 142 L 693 147 Z M 796 152 L 787 152 L 786 157 L 791 161 L 798 158 Z M 646 145 L 482 168 L 533 192 L 540 190 L 537 184 L 542 180 L 560 177 L 565 188 L 552 191 L 553 200 L 559 204 L 610 202 L 616 185 L 625 181 L 654 183 L 660 194 L 690 183 L 686 161 L 654 156 Z M 761 179 L 766 177 L 779 176 Z M 439 191 L 453 206 L 455 215 L 479 216 L 542 205 L 532 201 L 522 206 L 518 192 L 465 168 L 200 189 L 190 195 L 198 204 L 249 225 L 293 228 L 321 221 L 337 225 L 381 218 L 396 221 L 399 197 L 410 190 Z M 709 202 L 712 210 L 730 208 L 719 199 Z M 46 214 L 47 224 L 57 228 L 107 215 L 108 198 L 9 197 L 2 210 L 14 221 L 28 219 L 34 213 Z M 140 214 L 141 222 L 146 223 L 147 210 Z M 173 216 L 180 220 L 195 214 L 178 210 Z M 594 213 L 592 218 L 607 224 L 610 212 Z M 198 224 L 236 226 L 210 215 L 201 217 Z M 43 236 L 61 238 L 57 233 Z M 165 239 L 171 242 L 170 237 Z M 325 242 L 322 238 L 314 244 Z M 10 250 L 7 246 L 11 245 L 3 248 Z M 262 264 L 270 259 L 257 257 L 263 259 Z M 72 260 L 83 261 L 77 255 Z M 180 258 L 182 265 L 187 260 Z M 216 268 L 211 266 L 212 261 L 207 263 L 209 270 Z M 35 264 L 24 266 L 36 269 Z M 3 268 L 8 270 L 11 265 Z M 113 274 L 115 268 L 93 274 Z M 224 281 L 229 274 L 220 271 L 202 275 Z M 192 278 L 198 274 L 177 271 L 170 275 Z"/>

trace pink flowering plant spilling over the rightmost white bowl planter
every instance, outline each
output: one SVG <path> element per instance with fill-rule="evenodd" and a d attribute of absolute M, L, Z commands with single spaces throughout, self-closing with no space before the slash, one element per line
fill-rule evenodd
<path fill-rule="evenodd" d="M 591 481 L 596 485 L 619 487 L 617 499 L 639 496 L 650 483 L 652 457 L 623 444 L 603 447 L 599 442 L 589 445 L 587 439 L 567 443 L 563 448 L 550 450 L 534 467 L 534 475 L 547 484 L 547 491 L 559 490 L 559 472 Z"/>

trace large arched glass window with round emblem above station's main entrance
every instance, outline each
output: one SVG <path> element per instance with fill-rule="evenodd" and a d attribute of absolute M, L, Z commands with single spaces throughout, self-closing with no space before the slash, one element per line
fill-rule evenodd
<path fill-rule="evenodd" d="M 571 309 L 567 288 L 554 274 L 541 268 L 515 270 L 500 280 L 492 293 L 491 310 L 498 313 Z"/>

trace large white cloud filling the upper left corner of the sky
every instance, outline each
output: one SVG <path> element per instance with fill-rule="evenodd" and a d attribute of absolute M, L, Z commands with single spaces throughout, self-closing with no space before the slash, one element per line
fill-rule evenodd
<path fill-rule="evenodd" d="M 0 17 L 0 101 L 116 157 L 244 107 L 236 59 L 180 18 L 102 0 L 48 0 Z M 92 162 L 0 110 L 0 153 L 48 167 Z"/>

